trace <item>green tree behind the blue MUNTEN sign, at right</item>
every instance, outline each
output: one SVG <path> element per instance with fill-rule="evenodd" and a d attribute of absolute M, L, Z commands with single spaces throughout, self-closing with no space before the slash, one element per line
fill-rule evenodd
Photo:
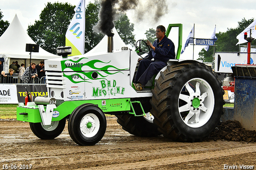
<path fill-rule="evenodd" d="M 239 45 L 236 45 L 238 40 L 236 36 L 240 34 L 245 28 L 247 28 L 252 22 L 254 18 L 246 20 L 245 18 L 242 21 L 238 22 L 237 28 L 228 28 L 227 32 L 219 32 L 216 34 L 218 40 L 215 42 L 215 52 L 238 52 Z M 253 41 L 252 45 L 255 45 L 256 42 Z M 246 43 L 244 43 L 246 45 Z M 213 61 L 213 53 L 214 47 L 210 46 L 208 51 L 205 51 L 204 48 L 198 53 L 199 58 L 205 62 L 212 62 Z"/>

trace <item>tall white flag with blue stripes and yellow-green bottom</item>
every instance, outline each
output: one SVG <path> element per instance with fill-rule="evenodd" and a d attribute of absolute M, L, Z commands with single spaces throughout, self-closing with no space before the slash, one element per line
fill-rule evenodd
<path fill-rule="evenodd" d="M 74 11 L 66 32 L 66 46 L 72 47 L 71 55 L 81 55 L 84 54 L 85 0 L 80 0 Z"/>

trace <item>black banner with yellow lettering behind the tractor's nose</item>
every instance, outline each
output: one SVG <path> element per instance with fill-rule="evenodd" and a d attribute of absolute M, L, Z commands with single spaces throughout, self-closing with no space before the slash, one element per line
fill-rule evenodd
<path fill-rule="evenodd" d="M 38 85 L 16 85 L 17 86 L 17 93 L 18 101 L 25 103 L 25 97 L 26 97 L 26 89 L 27 87 L 28 92 L 31 92 L 33 96 L 33 101 L 37 96 L 44 97 L 45 95 L 48 96 L 46 84 L 38 84 Z"/>

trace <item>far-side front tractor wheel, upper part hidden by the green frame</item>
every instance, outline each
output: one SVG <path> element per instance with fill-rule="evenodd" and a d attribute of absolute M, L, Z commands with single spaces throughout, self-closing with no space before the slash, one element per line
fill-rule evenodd
<path fill-rule="evenodd" d="M 65 128 L 66 118 L 60 121 L 53 121 L 51 125 L 43 123 L 29 123 L 32 132 L 40 139 L 54 139 L 59 136 Z"/>

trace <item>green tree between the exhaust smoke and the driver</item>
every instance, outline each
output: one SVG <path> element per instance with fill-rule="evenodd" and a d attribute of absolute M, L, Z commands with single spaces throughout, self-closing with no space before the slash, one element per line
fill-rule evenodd
<path fill-rule="evenodd" d="M 128 16 L 123 14 L 114 23 L 116 30 L 124 43 L 130 44 L 134 47 L 135 35 L 132 33 L 134 31 L 134 24 L 130 23 Z"/>

